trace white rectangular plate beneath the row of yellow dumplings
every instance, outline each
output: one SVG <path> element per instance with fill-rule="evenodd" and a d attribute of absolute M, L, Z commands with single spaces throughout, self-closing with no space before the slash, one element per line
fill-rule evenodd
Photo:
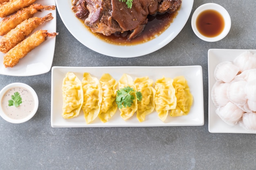
<path fill-rule="evenodd" d="M 157 70 L 155 72 L 154 70 Z M 109 122 L 103 123 L 96 118 L 92 123 L 86 124 L 81 110 L 79 116 L 72 119 L 62 117 L 62 82 L 67 72 L 73 72 L 82 80 L 83 73 L 89 72 L 92 76 L 101 78 L 103 73 L 109 73 L 116 81 L 119 81 L 122 74 L 126 73 L 136 77 L 148 76 L 156 81 L 162 76 L 174 78 L 175 76 L 184 76 L 189 84 L 191 94 L 193 95 L 193 105 L 187 116 L 171 117 L 168 116 L 166 122 L 162 122 L 157 112 L 146 116 L 144 122 L 139 122 L 136 113 L 127 121 L 120 116 L 117 110 Z M 52 98 L 51 98 L 51 125 L 52 127 L 121 127 L 121 126 L 202 126 L 204 124 L 204 104 L 203 104 L 203 83 L 202 67 L 195 66 L 166 66 L 166 67 L 52 67 Z"/>

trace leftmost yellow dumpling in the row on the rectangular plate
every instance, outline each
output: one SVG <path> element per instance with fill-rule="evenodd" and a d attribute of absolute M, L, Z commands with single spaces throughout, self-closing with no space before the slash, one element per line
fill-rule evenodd
<path fill-rule="evenodd" d="M 83 89 L 81 81 L 72 72 L 67 72 L 63 79 L 62 96 L 63 118 L 70 119 L 78 116 L 83 104 Z"/>

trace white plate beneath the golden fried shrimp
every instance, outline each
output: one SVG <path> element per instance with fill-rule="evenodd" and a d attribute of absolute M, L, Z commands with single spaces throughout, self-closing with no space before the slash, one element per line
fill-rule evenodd
<path fill-rule="evenodd" d="M 35 3 L 42 5 L 55 5 L 54 0 L 36 0 Z M 34 16 L 44 17 L 49 13 L 52 13 L 54 18 L 40 25 L 33 31 L 33 33 L 39 29 L 47 30 L 49 33 L 56 32 L 56 10 L 42 9 L 41 12 L 37 12 Z M 0 20 L 2 19 L 0 18 Z M 54 57 L 55 39 L 55 37 L 48 37 L 45 42 L 40 44 L 40 46 L 36 47 L 34 50 L 29 52 L 27 56 L 20 59 L 19 63 L 13 68 L 4 67 L 2 64 L 4 54 L 0 52 L 0 74 L 9 76 L 33 76 L 49 72 L 51 70 Z"/>

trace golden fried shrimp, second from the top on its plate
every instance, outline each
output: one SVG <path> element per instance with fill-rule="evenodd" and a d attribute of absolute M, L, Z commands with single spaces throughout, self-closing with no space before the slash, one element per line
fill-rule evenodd
<path fill-rule="evenodd" d="M 17 11 L 15 14 L 5 17 L 0 22 L 0 35 L 3 36 L 7 34 L 11 29 L 15 28 L 18 24 L 20 24 L 22 21 L 29 19 L 30 17 L 33 17 L 35 13 L 40 11 L 41 9 L 45 10 L 54 10 L 55 6 L 44 6 L 41 4 L 31 4 L 29 7 L 23 8 L 19 11 Z"/>

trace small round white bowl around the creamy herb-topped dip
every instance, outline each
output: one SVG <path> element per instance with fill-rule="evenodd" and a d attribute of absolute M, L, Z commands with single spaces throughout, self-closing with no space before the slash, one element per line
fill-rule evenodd
<path fill-rule="evenodd" d="M 4 113 L 4 110 L 2 108 L 2 98 L 3 98 L 4 94 L 6 94 L 6 92 L 9 91 L 9 89 L 11 89 L 13 87 L 22 87 L 24 89 L 27 89 L 33 97 L 34 108 L 32 109 L 32 111 L 25 118 L 21 118 L 21 119 L 10 118 L 9 116 L 7 116 L 7 114 Z M 17 124 L 17 123 L 27 122 L 28 120 L 30 120 L 36 114 L 36 111 L 38 109 L 38 96 L 37 96 L 36 92 L 34 91 L 34 89 L 32 87 L 30 87 L 29 85 L 25 84 L 25 83 L 11 83 L 11 84 L 5 86 L 0 91 L 0 101 L 1 101 L 1 103 L 0 103 L 0 116 L 4 120 L 6 120 L 7 122 L 10 122 L 10 123 L 16 123 Z M 11 107 L 15 107 L 15 106 L 11 106 Z"/>

